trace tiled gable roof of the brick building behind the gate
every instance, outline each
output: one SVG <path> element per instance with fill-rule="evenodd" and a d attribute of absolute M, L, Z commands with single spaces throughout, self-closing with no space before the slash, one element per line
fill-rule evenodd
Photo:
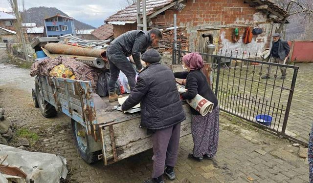
<path fill-rule="evenodd" d="M 156 12 L 158 9 L 163 8 L 164 6 L 175 2 L 178 0 L 146 0 L 146 9 L 147 9 L 147 16 L 153 14 Z M 209 0 L 208 0 L 209 1 Z M 285 16 L 287 12 L 279 7 L 278 5 L 274 4 L 271 0 L 249 0 L 250 2 L 252 1 L 253 3 L 257 4 L 267 4 L 268 8 L 277 14 L 281 16 Z M 141 2 L 142 3 L 142 2 Z M 141 5 L 142 7 L 142 5 Z M 142 8 L 141 8 L 142 11 Z M 105 20 L 106 22 L 110 21 L 137 21 L 137 5 L 134 3 L 133 5 L 130 5 L 126 7 L 125 9 L 118 11 L 116 14 L 110 16 L 108 19 Z"/>

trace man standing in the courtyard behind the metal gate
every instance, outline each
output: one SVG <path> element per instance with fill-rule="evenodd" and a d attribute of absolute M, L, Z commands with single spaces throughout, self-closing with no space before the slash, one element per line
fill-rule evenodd
<path fill-rule="evenodd" d="M 272 43 L 272 47 L 270 49 L 270 54 L 269 54 L 269 56 L 271 56 L 272 58 L 269 58 L 269 61 L 274 62 L 274 63 L 285 64 L 288 58 L 289 51 L 290 51 L 290 46 L 288 44 L 288 41 L 281 40 L 279 33 L 274 33 L 272 37 L 273 37 L 273 43 Z M 286 79 L 286 68 L 285 67 L 279 67 L 279 68 L 282 73 L 282 76 L 280 77 L 280 79 Z M 262 79 L 269 78 L 270 69 L 271 69 L 271 65 L 268 65 L 267 73 L 265 76 L 262 77 Z"/>

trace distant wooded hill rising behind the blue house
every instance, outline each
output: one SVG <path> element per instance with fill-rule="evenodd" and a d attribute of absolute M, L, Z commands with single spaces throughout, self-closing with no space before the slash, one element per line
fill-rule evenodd
<path fill-rule="evenodd" d="M 64 12 L 62 12 L 61 10 L 57 8 L 48 8 L 45 6 L 40 6 L 40 7 L 29 8 L 28 10 L 26 10 L 25 12 L 22 13 L 22 18 L 23 18 L 23 21 L 26 23 L 35 22 L 37 26 L 44 26 L 45 25 L 44 19 L 46 17 L 51 17 L 53 15 L 56 15 L 57 13 L 60 15 L 69 17 L 67 14 L 65 14 Z M 78 20 L 74 20 L 74 25 L 75 25 L 75 29 L 77 30 L 95 28 L 87 23 L 84 23 Z"/>

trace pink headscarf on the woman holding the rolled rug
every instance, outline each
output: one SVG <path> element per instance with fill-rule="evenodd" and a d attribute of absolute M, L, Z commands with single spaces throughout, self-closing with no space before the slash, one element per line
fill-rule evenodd
<path fill-rule="evenodd" d="M 187 55 L 182 57 L 182 61 L 190 67 L 190 70 L 199 70 L 204 66 L 202 57 L 197 52 L 188 53 Z"/>

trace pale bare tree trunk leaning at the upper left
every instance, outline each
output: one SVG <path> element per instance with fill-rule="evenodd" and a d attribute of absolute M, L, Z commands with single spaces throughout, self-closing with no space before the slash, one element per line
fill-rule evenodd
<path fill-rule="evenodd" d="M 23 32 L 23 28 L 22 28 L 22 17 L 21 17 L 21 14 L 20 14 L 20 11 L 19 11 L 19 6 L 18 6 L 18 2 L 17 0 L 8 0 L 13 12 L 14 12 L 14 15 L 16 17 L 16 20 L 17 20 L 17 25 L 16 25 L 16 28 L 18 30 L 18 33 L 20 33 L 20 37 L 21 37 L 21 41 L 22 41 L 22 47 L 23 47 L 23 52 L 25 54 L 25 59 L 26 61 L 29 61 L 28 59 L 28 51 L 27 51 L 27 48 L 26 48 L 26 42 L 25 42 L 25 37 L 24 37 L 24 32 Z"/>

